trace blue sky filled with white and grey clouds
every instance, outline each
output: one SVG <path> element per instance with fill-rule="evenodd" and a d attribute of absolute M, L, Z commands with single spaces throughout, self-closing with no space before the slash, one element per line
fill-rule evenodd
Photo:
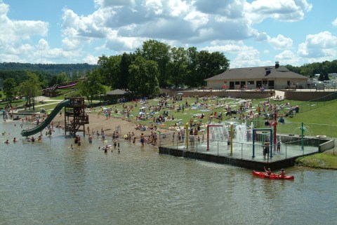
<path fill-rule="evenodd" d="M 154 39 L 230 68 L 337 59 L 336 0 L 0 0 L 0 62 L 97 64 Z M 337 72 L 337 71 L 336 71 Z"/>

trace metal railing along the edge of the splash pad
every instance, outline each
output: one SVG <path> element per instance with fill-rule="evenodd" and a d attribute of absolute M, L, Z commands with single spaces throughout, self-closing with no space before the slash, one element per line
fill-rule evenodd
<path fill-rule="evenodd" d="M 199 138 L 198 138 L 199 137 Z M 319 144 L 322 139 L 290 137 L 287 142 L 274 143 L 263 150 L 265 143 L 255 142 L 254 148 L 251 142 L 238 143 L 223 142 L 214 139 L 202 139 L 198 136 L 187 140 L 176 137 L 171 133 L 161 133 L 159 135 L 159 146 L 170 149 L 180 149 L 181 151 L 194 151 L 196 153 L 211 154 L 214 156 L 228 156 L 232 158 L 254 159 L 256 161 L 279 161 L 295 156 L 303 156 L 319 151 Z M 292 138 L 292 139 L 291 139 Z M 209 144 L 207 144 L 209 141 Z M 253 150 L 254 149 L 254 150 Z"/>

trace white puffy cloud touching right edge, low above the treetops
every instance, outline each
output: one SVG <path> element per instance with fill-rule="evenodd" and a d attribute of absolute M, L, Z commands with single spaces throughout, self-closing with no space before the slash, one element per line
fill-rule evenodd
<path fill-rule="evenodd" d="M 305 58 L 317 60 L 333 60 L 336 58 L 337 36 L 330 32 L 309 34 L 304 43 L 298 45 L 298 55 Z"/>

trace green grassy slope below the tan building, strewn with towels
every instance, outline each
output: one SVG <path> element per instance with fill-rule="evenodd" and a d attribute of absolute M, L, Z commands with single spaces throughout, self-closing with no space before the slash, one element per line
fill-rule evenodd
<path fill-rule="evenodd" d="M 178 105 L 181 104 L 185 104 L 186 99 L 184 99 L 182 102 L 177 102 L 175 104 L 176 107 L 178 107 Z M 194 123 L 196 122 L 200 122 L 201 124 L 206 124 L 209 119 L 209 115 L 213 114 L 214 112 L 217 112 L 217 114 L 219 112 L 223 113 L 223 121 L 228 122 L 228 123 L 232 123 L 232 122 L 236 122 L 236 123 L 243 123 L 244 121 L 239 121 L 236 119 L 230 119 L 230 118 L 226 118 L 225 111 L 223 109 L 223 107 L 216 107 L 215 104 L 216 102 L 220 102 L 221 104 L 223 104 L 224 102 L 227 102 L 230 105 L 233 105 L 235 109 L 237 109 L 239 107 L 239 102 L 240 100 L 234 100 L 234 99 L 224 99 L 224 98 L 218 98 L 218 99 L 212 99 L 212 100 L 208 100 L 207 104 L 209 105 L 209 110 L 205 111 L 206 109 L 204 107 L 201 107 L 199 109 L 194 109 L 193 104 L 195 102 L 194 98 L 187 98 L 187 102 L 191 107 L 187 107 L 185 108 L 185 111 L 180 111 L 178 112 L 176 109 L 161 109 L 160 113 L 159 112 L 154 112 L 154 116 L 159 116 L 160 114 L 164 114 L 164 111 L 169 111 L 169 115 L 173 116 L 175 118 L 175 121 L 166 121 L 164 123 L 159 124 L 160 128 L 163 129 L 169 129 L 173 126 L 174 123 L 177 123 L 177 125 L 185 125 L 185 123 L 187 123 L 188 121 L 190 121 L 190 119 L 192 118 L 192 120 L 194 121 Z M 258 99 L 258 100 L 253 100 L 252 101 L 252 105 L 253 108 L 251 110 L 253 110 L 254 112 L 256 112 L 256 107 L 258 106 L 258 104 L 261 104 L 261 102 L 265 101 L 265 99 Z M 148 106 L 156 106 L 159 101 L 158 100 L 148 100 L 148 103 L 146 104 L 146 107 Z M 172 101 L 169 100 L 169 103 L 171 103 Z M 202 102 L 202 100 L 199 100 L 199 102 Z M 304 102 L 300 102 L 300 101 L 288 101 L 291 105 L 299 105 L 299 104 L 304 104 Z M 270 103 L 274 103 L 273 101 L 271 101 Z M 280 102 L 275 102 L 275 103 L 280 103 Z M 285 102 L 281 102 L 281 104 L 284 104 Z M 133 106 L 135 107 L 135 102 L 126 102 L 125 103 L 126 107 L 130 107 Z M 142 124 L 142 125 L 150 125 L 151 123 L 153 123 L 152 120 L 147 120 L 147 121 L 137 121 L 136 120 L 136 116 L 138 116 L 139 114 L 139 109 L 140 107 L 144 107 L 145 104 L 137 104 L 137 107 L 135 109 L 133 109 L 131 111 L 131 117 L 130 117 L 130 121 L 133 123 L 137 123 L 137 124 Z M 117 109 L 119 111 L 118 114 L 114 115 L 117 117 L 123 117 L 122 114 L 120 114 L 120 112 L 123 110 L 122 109 L 122 104 L 113 104 L 110 106 L 105 106 L 107 108 L 112 107 L 113 109 Z M 337 101 L 332 102 L 331 104 L 326 104 L 325 106 L 322 105 L 321 108 L 319 109 L 312 109 L 311 111 L 306 111 L 306 112 L 300 112 L 299 114 L 296 114 L 296 116 L 294 116 L 293 118 L 290 117 L 286 117 L 286 123 L 285 124 L 280 124 L 277 126 L 277 130 L 278 132 L 281 133 L 286 133 L 286 134 L 295 134 L 295 135 L 300 135 L 300 123 L 304 123 L 305 125 L 305 135 L 329 135 L 332 137 L 337 137 L 337 120 L 333 120 L 333 115 L 334 112 L 336 111 L 337 108 Z M 250 109 L 249 109 L 250 110 Z M 285 111 L 287 111 L 289 109 L 284 109 L 284 111 L 280 111 L 279 114 L 284 113 Z M 147 111 L 145 111 L 146 114 L 150 114 L 150 111 L 147 109 Z M 324 112 L 324 113 L 322 113 Z M 198 116 L 201 115 L 202 113 L 205 114 L 205 118 L 203 119 L 199 119 Z M 246 114 L 246 113 L 245 113 Z M 324 115 L 324 116 L 319 116 L 319 115 Z M 325 116 L 326 115 L 326 116 Z M 233 115 L 234 116 L 239 116 L 239 115 Z M 317 116 L 319 116 L 319 120 L 317 120 Z M 260 116 L 259 118 L 256 117 L 255 120 L 260 120 L 259 124 L 263 125 L 265 118 L 263 116 Z M 213 119 L 213 122 L 217 123 L 219 122 L 218 119 Z M 317 124 L 317 122 L 319 124 Z M 249 122 L 250 123 L 250 122 Z M 309 124 L 312 123 L 312 124 Z M 316 125 L 317 124 L 317 125 Z M 320 124 L 326 124 L 326 125 L 320 125 Z M 331 125 L 336 125 L 336 126 L 331 126 Z M 329 133 L 327 133 L 327 131 L 329 131 Z"/>

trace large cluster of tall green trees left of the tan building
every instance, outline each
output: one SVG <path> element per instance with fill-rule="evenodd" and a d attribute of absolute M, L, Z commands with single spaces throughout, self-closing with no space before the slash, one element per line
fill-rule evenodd
<path fill-rule="evenodd" d="M 98 65 L 107 86 L 147 96 L 159 93 L 159 88 L 200 87 L 204 79 L 227 70 L 230 61 L 223 53 L 149 40 L 133 53 L 102 55 Z"/>

